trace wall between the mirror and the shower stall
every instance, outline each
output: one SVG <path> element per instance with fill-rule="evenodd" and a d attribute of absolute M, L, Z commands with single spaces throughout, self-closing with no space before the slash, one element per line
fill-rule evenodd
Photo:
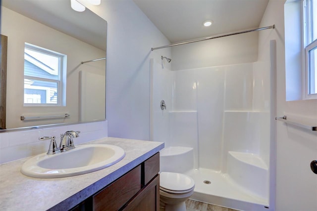
<path fill-rule="evenodd" d="M 80 1 L 80 0 L 79 0 Z M 83 1 L 83 4 L 85 1 Z M 106 119 L 108 135 L 150 139 L 150 59 L 170 57 L 169 44 L 132 0 L 88 5 L 107 21 Z M 168 64 L 167 64 L 168 66 Z"/>

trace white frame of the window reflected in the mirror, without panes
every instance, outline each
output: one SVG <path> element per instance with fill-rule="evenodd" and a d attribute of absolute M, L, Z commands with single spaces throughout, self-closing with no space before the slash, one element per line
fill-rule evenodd
<path fill-rule="evenodd" d="M 34 77 L 34 76 L 25 76 L 24 75 L 24 69 L 23 69 L 23 77 L 24 79 L 29 79 L 29 80 L 38 80 L 38 81 L 45 81 L 45 82 L 53 82 L 57 84 L 57 103 L 25 103 L 24 102 L 24 93 L 23 93 L 23 106 L 25 107 L 30 107 L 30 106 L 49 106 L 49 107 L 57 107 L 57 106 L 66 106 L 66 61 L 67 61 L 67 56 L 55 52 L 50 49 L 46 49 L 34 44 L 30 44 L 25 42 L 24 49 L 30 49 L 33 51 L 38 51 L 43 54 L 48 54 L 52 55 L 55 57 L 58 57 L 58 79 L 53 80 L 53 79 L 46 79 L 46 78 L 41 78 L 41 77 Z M 23 80 L 24 81 L 24 80 Z M 24 87 L 24 86 L 23 86 Z M 25 88 L 23 88 L 24 92 Z"/>

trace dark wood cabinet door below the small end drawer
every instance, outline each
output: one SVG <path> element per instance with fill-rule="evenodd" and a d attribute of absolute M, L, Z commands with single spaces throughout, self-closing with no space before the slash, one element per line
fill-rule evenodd
<path fill-rule="evenodd" d="M 159 174 L 133 198 L 123 211 L 159 211 Z"/>

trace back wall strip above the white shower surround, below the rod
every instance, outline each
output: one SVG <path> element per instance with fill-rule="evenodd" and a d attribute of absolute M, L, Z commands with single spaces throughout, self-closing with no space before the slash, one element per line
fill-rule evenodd
<path fill-rule="evenodd" d="M 173 71 L 255 62 L 258 32 L 174 46 L 172 59 Z"/>

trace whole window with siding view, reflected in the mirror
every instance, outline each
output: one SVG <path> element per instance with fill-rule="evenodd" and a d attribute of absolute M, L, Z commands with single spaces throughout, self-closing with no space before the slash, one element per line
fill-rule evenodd
<path fill-rule="evenodd" d="M 66 55 L 25 43 L 24 106 L 65 106 Z"/>

